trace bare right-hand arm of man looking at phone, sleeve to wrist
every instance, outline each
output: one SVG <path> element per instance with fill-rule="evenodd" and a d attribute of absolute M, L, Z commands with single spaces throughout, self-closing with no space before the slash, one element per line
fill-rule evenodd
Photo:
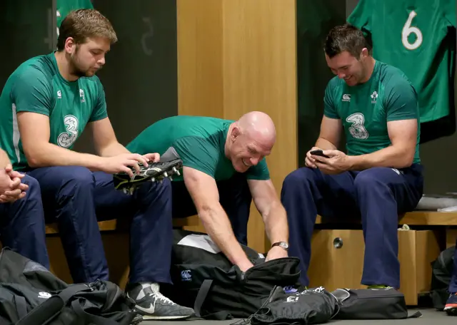
<path fill-rule="evenodd" d="M 371 167 L 409 167 L 413 163 L 417 143 L 417 120 L 393 120 L 387 123 L 391 145 L 374 153 L 348 156 L 351 170 Z"/>

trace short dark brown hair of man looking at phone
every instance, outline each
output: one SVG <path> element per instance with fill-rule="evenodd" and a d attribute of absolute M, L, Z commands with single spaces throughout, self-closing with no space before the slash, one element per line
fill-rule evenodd
<path fill-rule="evenodd" d="M 368 48 L 368 53 L 371 54 L 370 43 L 363 36 L 363 32 L 356 26 L 344 24 L 333 27 L 328 32 L 324 51 L 329 58 L 333 58 L 333 56 L 341 52 L 348 51 L 358 59 L 363 48 Z"/>

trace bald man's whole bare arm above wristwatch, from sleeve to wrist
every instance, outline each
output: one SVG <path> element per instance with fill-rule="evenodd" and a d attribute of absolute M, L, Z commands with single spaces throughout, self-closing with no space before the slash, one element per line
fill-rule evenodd
<path fill-rule="evenodd" d="M 249 189 L 258 212 L 261 213 L 271 243 L 288 242 L 286 210 L 276 195 L 271 180 L 248 180 Z"/>

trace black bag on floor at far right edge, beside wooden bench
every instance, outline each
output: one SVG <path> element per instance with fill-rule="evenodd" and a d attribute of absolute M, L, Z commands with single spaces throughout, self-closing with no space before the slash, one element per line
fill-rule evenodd
<path fill-rule="evenodd" d="M 430 297 L 433 307 L 438 310 L 444 309 L 446 301 L 449 298 L 448 289 L 449 284 L 451 284 L 455 252 L 455 246 L 444 249 L 443 252 L 431 262 Z"/>

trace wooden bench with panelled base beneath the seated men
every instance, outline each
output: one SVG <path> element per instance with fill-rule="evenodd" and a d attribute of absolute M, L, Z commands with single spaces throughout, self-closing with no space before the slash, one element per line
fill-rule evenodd
<path fill-rule="evenodd" d="M 198 217 L 175 219 L 174 227 L 200 230 Z M 338 229 L 334 229 L 334 225 Z M 410 231 L 398 231 L 398 259 L 401 262 L 401 292 L 406 303 L 415 306 L 418 295 L 430 289 L 431 265 L 441 250 L 456 242 L 456 212 L 415 211 L 399 217 L 398 225 L 408 225 Z M 110 279 L 124 288 L 129 274 L 129 234 L 116 232 L 118 222 L 99 222 Z M 418 229 L 416 229 L 418 228 Z M 46 225 L 51 271 L 71 283 L 69 269 L 55 224 Z M 335 239 L 342 243 L 336 247 Z M 312 239 L 312 255 L 308 276 L 311 286 L 327 289 L 363 288 L 363 233 L 360 220 L 324 220 L 318 216 Z"/>

